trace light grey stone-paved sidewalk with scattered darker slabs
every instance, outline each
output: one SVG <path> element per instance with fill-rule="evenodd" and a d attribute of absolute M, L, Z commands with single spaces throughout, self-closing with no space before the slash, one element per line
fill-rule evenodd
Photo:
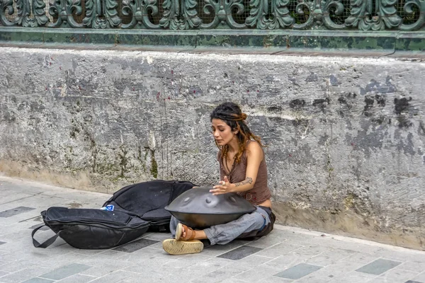
<path fill-rule="evenodd" d="M 34 248 L 30 232 L 52 206 L 99 208 L 110 195 L 0 177 L 0 282 L 393 282 L 425 283 L 425 252 L 277 225 L 259 241 L 168 255 L 168 233 L 111 250 L 62 239 Z M 38 241 L 50 229 L 39 231 Z"/>

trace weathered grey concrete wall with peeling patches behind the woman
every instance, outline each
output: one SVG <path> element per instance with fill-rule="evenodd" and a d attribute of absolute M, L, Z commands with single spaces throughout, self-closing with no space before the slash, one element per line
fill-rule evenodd
<path fill-rule="evenodd" d="M 263 138 L 280 224 L 425 249 L 425 63 L 397 59 L 0 52 L 0 171 L 113 192 L 217 180 L 209 113 Z"/>

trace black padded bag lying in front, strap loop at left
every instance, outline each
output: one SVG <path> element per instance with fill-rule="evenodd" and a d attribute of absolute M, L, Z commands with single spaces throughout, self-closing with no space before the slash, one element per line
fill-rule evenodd
<path fill-rule="evenodd" d="M 57 237 L 74 248 L 113 248 L 142 236 L 149 229 L 149 222 L 137 216 L 101 209 L 50 207 L 41 215 L 45 225 L 56 234 L 38 243 L 34 234 L 44 225 L 34 229 L 31 236 L 36 248 L 47 248 Z"/>

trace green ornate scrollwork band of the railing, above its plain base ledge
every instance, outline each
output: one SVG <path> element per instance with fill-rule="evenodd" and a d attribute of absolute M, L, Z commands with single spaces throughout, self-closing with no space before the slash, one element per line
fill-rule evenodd
<path fill-rule="evenodd" d="M 424 0 L 0 0 L 4 26 L 421 30 Z"/>

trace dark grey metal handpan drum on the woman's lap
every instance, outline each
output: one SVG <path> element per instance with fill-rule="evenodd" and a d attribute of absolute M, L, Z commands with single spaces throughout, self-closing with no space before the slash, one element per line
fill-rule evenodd
<path fill-rule="evenodd" d="M 198 229 L 234 221 L 256 209 L 234 192 L 212 195 L 210 190 L 212 187 L 195 187 L 187 190 L 165 209 L 181 223 Z"/>

